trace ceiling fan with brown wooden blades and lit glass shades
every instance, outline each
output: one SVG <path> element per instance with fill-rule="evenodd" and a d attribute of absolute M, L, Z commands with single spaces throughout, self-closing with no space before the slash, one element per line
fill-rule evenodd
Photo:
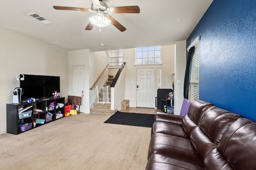
<path fill-rule="evenodd" d="M 139 6 L 117 6 L 108 7 L 108 5 L 102 0 L 92 0 L 91 9 L 88 8 L 77 8 L 68 6 L 53 6 L 55 10 L 71 10 L 71 11 L 84 11 L 84 12 L 94 12 L 95 15 L 89 18 L 90 22 L 86 26 L 86 30 L 92 30 L 94 25 L 98 27 L 105 27 L 110 23 L 114 25 L 121 32 L 125 31 L 126 28 L 116 21 L 109 14 L 120 14 L 120 13 L 140 13 Z"/>

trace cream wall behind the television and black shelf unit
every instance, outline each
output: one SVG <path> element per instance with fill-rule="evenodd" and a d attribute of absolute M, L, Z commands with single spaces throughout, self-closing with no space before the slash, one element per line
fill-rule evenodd
<path fill-rule="evenodd" d="M 18 73 L 60 76 L 60 95 L 68 96 L 68 51 L 3 27 L 0 35 L 0 133 L 5 133 L 6 104 L 19 86 Z"/>

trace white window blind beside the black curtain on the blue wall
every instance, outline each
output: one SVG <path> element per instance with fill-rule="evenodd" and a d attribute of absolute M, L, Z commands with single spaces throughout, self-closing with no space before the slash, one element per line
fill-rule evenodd
<path fill-rule="evenodd" d="M 199 98 L 199 41 L 196 42 L 195 53 L 190 67 L 190 85 L 188 90 L 188 100 Z"/>

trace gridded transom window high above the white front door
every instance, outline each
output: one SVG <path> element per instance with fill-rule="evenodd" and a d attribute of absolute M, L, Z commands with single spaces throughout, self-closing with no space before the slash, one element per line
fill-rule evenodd
<path fill-rule="evenodd" d="M 135 64 L 161 64 L 161 46 L 136 48 Z"/>

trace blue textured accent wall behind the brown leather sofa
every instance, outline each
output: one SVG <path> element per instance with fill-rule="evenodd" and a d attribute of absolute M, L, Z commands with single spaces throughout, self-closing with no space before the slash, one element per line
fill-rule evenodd
<path fill-rule="evenodd" d="M 256 121 L 256 1 L 214 0 L 200 36 L 199 98 Z"/>

